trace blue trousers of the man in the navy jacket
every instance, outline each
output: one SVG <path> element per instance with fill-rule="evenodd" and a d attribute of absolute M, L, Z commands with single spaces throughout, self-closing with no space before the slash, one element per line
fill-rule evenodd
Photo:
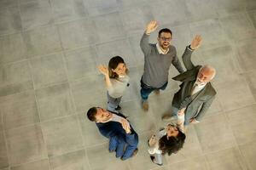
<path fill-rule="evenodd" d="M 116 151 L 116 157 L 126 160 L 130 158 L 137 149 L 138 136 L 137 133 L 126 134 L 124 136 L 113 136 L 109 140 L 109 150 Z M 125 149 L 125 150 L 124 150 Z"/>

